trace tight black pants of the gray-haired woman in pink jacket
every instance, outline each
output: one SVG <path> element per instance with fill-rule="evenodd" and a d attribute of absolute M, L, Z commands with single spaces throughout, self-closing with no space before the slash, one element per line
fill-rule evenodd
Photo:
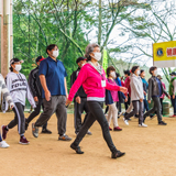
<path fill-rule="evenodd" d="M 103 134 L 103 139 L 107 142 L 110 151 L 112 153 L 117 152 L 117 148 L 112 142 L 110 132 L 109 132 L 109 124 L 108 121 L 103 114 L 102 111 L 102 106 L 103 102 L 98 102 L 98 101 L 87 101 L 90 113 L 88 114 L 88 118 L 85 122 L 85 124 L 81 127 L 76 140 L 74 141 L 74 144 L 76 146 L 79 145 L 80 141 L 82 140 L 82 138 L 86 135 L 88 129 L 94 124 L 94 122 L 97 120 L 98 123 L 101 125 L 101 130 L 102 130 L 102 134 Z"/>

